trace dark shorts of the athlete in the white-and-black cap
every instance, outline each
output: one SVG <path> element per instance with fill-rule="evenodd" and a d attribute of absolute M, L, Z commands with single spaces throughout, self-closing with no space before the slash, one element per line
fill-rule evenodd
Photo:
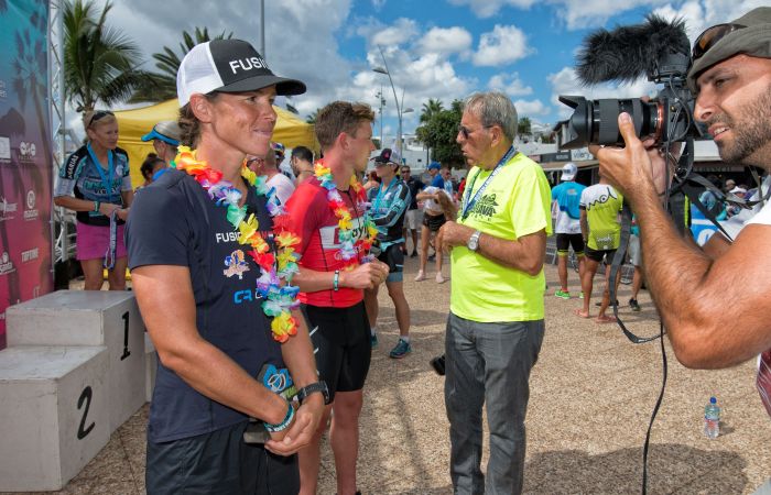
<path fill-rule="evenodd" d="M 261 444 L 246 443 L 247 425 L 170 442 L 148 440 L 148 494 L 296 494 L 297 455 L 275 455 Z"/>

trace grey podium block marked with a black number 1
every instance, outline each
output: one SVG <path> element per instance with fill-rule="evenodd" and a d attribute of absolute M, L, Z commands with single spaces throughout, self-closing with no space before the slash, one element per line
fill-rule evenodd
<path fill-rule="evenodd" d="M 6 323 L 9 348 L 107 348 L 110 432 L 144 404 L 144 323 L 132 293 L 58 290 L 8 308 Z"/>

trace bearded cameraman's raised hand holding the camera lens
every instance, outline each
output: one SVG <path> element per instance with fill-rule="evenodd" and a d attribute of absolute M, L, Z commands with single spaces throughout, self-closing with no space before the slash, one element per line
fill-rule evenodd
<path fill-rule="evenodd" d="M 600 173 L 632 204 L 658 198 L 669 178 L 665 160 L 654 147 L 653 140 L 640 141 L 628 113 L 618 116 L 618 127 L 626 147 L 589 146 L 589 152 L 599 161 Z"/>

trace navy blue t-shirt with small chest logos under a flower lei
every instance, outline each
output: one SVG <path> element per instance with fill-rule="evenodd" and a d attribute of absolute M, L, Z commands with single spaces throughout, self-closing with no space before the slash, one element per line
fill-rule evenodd
<path fill-rule="evenodd" d="M 262 235 L 272 242 L 265 198 L 249 188 L 246 202 L 256 212 Z M 126 245 L 131 270 L 143 265 L 187 266 L 200 336 L 252 377 L 265 363 L 283 367 L 281 346 L 254 280 L 260 271 L 238 243 L 238 231 L 185 172 L 172 169 L 142 189 L 131 206 Z M 211 400 L 159 362 L 150 406 L 149 439 L 163 442 L 215 431 L 247 416 Z"/>

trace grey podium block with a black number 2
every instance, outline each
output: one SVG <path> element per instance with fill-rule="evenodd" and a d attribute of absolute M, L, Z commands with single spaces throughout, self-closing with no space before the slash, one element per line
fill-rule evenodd
<path fill-rule="evenodd" d="M 110 439 L 105 346 L 0 351 L 0 492 L 61 490 Z"/>

